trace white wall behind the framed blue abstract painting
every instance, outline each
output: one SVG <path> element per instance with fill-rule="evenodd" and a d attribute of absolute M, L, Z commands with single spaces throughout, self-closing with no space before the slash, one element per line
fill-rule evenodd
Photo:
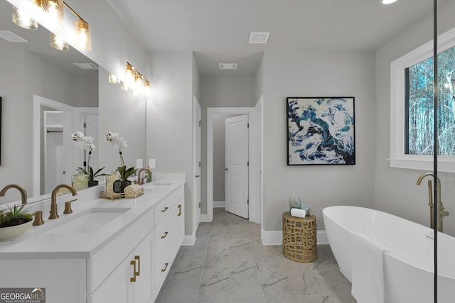
<path fill-rule="evenodd" d="M 373 207 L 375 57 L 355 52 L 265 52 L 264 230 L 282 229 L 296 193 L 311 205 L 318 229 L 331 205 Z M 286 97 L 355 97 L 355 165 L 287 166 Z"/>

